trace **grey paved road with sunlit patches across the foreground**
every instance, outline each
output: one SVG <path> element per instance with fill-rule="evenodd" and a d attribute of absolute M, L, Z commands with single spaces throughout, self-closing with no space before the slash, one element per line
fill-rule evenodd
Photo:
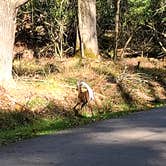
<path fill-rule="evenodd" d="M 166 108 L 1 147 L 0 166 L 166 166 Z"/>

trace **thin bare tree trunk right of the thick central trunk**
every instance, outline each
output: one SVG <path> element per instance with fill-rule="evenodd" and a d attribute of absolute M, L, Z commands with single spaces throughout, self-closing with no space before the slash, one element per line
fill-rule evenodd
<path fill-rule="evenodd" d="M 116 58 L 117 58 L 117 49 L 118 49 L 118 40 L 119 40 L 120 2 L 121 2 L 121 0 L 116 0 L 114 60 L 116 60 Z"/>

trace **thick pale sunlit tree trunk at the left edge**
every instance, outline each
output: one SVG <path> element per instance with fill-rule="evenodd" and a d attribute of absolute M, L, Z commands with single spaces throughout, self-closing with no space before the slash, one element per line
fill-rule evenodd
<path fill-rule="evenodd" d="M 1 0 L 0 3 L 0 84 L 12 80 L 13 46 L 17 9 L 28 0 Z"/>

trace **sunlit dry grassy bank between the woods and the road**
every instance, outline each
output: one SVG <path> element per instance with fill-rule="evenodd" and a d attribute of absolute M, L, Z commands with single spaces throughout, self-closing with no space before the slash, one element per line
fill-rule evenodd
<path fill-rule="evenodd" d="M 14 61 L 13 75 L 13 86 L 8 90 L 0 88 L 0 133 L 12 131 L 1 134 L 0 144 L 39 135 L 38 130 L 41 134 L 46 128 L 63 129 L 104 119 L 114 113 L 166 104 L 166 61 L 154 58 L 124 58 L 117 62 L 79 58 L 21 59 Z M 93 118 L 88 107 L 83 109 L 81 114 L 89 118 L 83 122 L 73 112 L 78 80 L 92 87 L 98 103 L 92 103 Z M 64 118 L 69 121 L 61 124 L 60 119 Z M 38 119 L 46 120 L 39 124 L 39 129 L 36 127 Z M 29 124 L 35 127 L 27 129 L 28 132 L 20 128 Z"/>

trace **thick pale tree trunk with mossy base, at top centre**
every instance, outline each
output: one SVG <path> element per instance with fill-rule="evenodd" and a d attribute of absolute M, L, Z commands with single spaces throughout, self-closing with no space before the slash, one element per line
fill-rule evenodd
<path fill-rule="evenodd" d="M 97 58 L 96 0 L 78 0 L 78 24 L 81 55 Z"/>

